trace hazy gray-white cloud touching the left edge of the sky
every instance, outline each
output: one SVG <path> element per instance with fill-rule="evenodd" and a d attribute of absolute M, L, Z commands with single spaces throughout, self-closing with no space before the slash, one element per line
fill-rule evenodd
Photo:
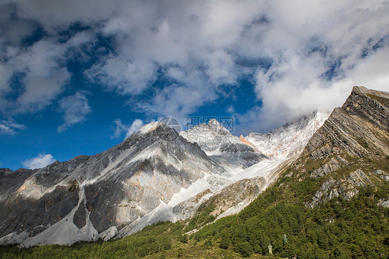
<path fill-rule="evenodd" d="M 42 39 L 27 48 L 4 44 L 6 51 L 0 53 L 0 111 L 6 115 L 25 114 L 50 105 L 71 78 L 66 69 L 66 51 L 84 44 L 86 39 L 84 33 L 78 33 L 63 44 L 55 39 Z M 10 84 L 12 76 L 19 85 Z"/>

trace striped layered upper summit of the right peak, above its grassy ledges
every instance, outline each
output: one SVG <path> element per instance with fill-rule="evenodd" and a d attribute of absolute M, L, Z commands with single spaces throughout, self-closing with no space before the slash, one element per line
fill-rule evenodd
<path fill-rule="evenodd" d="M 342 108 L 336 108 L 305 147 L 311 159 L 323 159 L 345 152 L 361 158 L 372 150 L 389 154 L 389 94 L 354 87 Z M 384 101 L 386 100 L 386 101 Z"/>

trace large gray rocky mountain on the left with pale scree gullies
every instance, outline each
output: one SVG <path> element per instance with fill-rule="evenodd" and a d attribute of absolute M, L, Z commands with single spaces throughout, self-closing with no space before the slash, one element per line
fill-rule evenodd
<path fill-rule="evenodd" d="M 6 189 L 1 192 L 0 242 L 23 241 L 28 247 L 112 238 L 161 204 L 186 199 L 181 190 L 226 185 L 219 177 L 224 169 L 198 145 L 181 136 L 165 141 L 156 132 L 178 136 L 152 123 L 95 156 L 41 170 L 2 170 L 7 178 L 1 181 Z"/>

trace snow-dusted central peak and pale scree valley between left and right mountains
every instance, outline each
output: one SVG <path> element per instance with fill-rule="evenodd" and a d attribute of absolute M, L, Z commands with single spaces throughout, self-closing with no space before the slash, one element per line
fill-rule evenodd
<path fill-rule="evenodd" d="M 283 127 L 279 127 L 268 134 L 251 133 L 249 140 L 257 139 L 256 136 L 266 136 L 278 145 L 273 147 L 273 157 L 262 154 L 266 152 L 269 145 L 266 141 L 253 141 L 250 143 L 242 136 L 233 136 L 217 120 L 213 119 L 202 123 L 180 135 L 188 141 L 195 143 L 206 152 L 208 157 L 225 169 L 221 175 L 231 182 L 229 186 L 221 188 L 217 193 L 207 189 L 196 197 L 188 199 L 177 205 L 174 210 L 179 212 L 177 219 L 187 220 L 197 217 L 208 208 L 212 216 L 226 217 L 239 213 L 250 204 L 267 186 L 273 184 L 280 176 L 280 168 L 289 165 L 296 157 L 285 156 L 287 154 L 300 154 L 302 145 L 305 145 L 309 138 L 323 124 L 329 114 L 314 112 L 309 117 L 295 120 Z M 264 139 L 262 139 L 264 140 Z M 270 148 L 269 148 L 270 149 Z M 260 152 L 262 150 L 262 152 Z M 197 223 L 196 227 L 202 225 Z"/>

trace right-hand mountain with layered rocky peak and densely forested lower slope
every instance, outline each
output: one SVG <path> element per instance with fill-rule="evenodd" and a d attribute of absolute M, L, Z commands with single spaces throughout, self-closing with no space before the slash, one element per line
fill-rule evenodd
<path fill-rule="evenodd" d="M 193 246 L 213 244 L 220 256 L 388 258 L 388 108 L 389 93 L 354 87 L 273 185 L 193 233 Z"/>

